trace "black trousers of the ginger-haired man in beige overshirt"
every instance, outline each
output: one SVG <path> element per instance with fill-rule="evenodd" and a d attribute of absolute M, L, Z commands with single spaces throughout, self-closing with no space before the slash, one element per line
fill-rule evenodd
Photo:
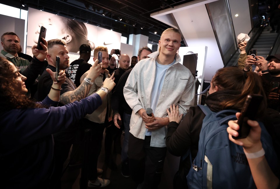
<path fill-rule="evenodd" d="M 105 128 L 104 123 L 95 123 L 86 118 L 83 119 L 83 127 L 91 129 L 92 134 L 89 141 L 89 165 L 88 165 L 88 179 L 97 179 L 97 161 L 101 152 L 103 132 Z"/>

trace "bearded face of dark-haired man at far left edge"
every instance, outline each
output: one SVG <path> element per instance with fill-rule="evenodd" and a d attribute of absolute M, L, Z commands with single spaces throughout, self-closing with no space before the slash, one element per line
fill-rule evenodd
<path fill-rule="evenodd" d="M 16 35 L 5 35 L 4 42 L 1 41 L 1 45 L 7 53 L 16 55 L 20 49 L 20 39 Z"/>

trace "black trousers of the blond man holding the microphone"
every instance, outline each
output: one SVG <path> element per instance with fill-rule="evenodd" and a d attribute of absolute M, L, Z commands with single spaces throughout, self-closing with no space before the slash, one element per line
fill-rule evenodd
<path fill-rule="evenodd" d="M 138 139 L 129 133 L 129 171 L 137 184 L 144 181 L 144 188 L 157 188 L 160 184 L 167 148 L 150 146 L 151 136 Z"/>

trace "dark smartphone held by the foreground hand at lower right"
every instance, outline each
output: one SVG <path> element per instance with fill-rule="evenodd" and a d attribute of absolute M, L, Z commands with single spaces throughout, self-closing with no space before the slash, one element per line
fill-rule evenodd
<path fill-rule="evenodd" d="M 237 121 L 239 125 L 238 136 L 232 136 L 233 139 L 243 139 L 246 138 L 250 132 L 251 126 L 248 125 L 247 121 L 255 120 L 256 114 L 259 110 L 260 103 L 262 102 L 262 95 L 248 95 L 244 106 L 241 110 L 241 114 Z"/>

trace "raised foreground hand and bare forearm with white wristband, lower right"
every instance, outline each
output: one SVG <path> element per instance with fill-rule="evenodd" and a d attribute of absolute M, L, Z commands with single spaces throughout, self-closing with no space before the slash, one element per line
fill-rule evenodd
<path fill-rule="evenodd" d="M 240 118 L 240 113 L 236 113 L 237 119 Z M 228 122 L 228 137 L 230 141 L 243 146 L 247 157 L 251 173 L 257 188 L 273 189 L 279 187 L 279 179 L 269 167 L 264 153 L 262 153 L 262 143 L 260 141 L 261 128 L 257 121 L 248 120 L 248 125 L 251 126 L 249 135 L 244 139 L 233 139 L 232 136 L 238 136 L 239 125 L 237 120 Z"/>

